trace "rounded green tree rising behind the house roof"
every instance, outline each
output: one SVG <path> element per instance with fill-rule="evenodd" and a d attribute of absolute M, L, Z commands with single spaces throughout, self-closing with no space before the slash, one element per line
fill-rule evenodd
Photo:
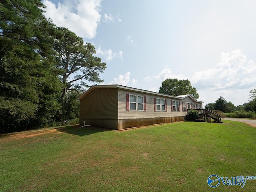
<path fill-rule="evenodd" d="M 199 95 L 195 87 L 192 87 L 190 81 L 178 80 L 178 79 L 166 79 L 162 82 L 162 86 L 159 89 L 159 93 L 164 93 L 168 95 L 186 95 L 189 94 L 194 99 L 198 99 Z"/>

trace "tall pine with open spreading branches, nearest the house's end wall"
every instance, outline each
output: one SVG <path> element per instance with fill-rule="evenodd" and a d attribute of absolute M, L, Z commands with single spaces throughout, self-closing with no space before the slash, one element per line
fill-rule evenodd
<path fill-rule="evenodd" d="M 62 70 L 62 111 L 61 117 L 67 104 L 68 97 L 65 95 L 70 90 L 83 91 L 83 86 L 88 87 L 88 82 L 100 83 L 100 73 L 106 69 L 106 63 L 100 57 L 95 57 L 95 47 L 84 44 L 82 38 L 76 36 L 67 28 L 58 27 L 59 35 L 54 40 L 56 54 L 56 69 Z M 79 82 L 79 83 L 78 83 Z"/>

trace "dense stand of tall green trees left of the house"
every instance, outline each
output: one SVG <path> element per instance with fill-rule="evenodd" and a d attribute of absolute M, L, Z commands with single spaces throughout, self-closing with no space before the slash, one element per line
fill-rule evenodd
<path fill-rule="evenodd" d="M 78 95 L 103 81 L 95 47 L 42 8 L 40 0 L 0 2 L 0 133 L 78 118 Z"/>

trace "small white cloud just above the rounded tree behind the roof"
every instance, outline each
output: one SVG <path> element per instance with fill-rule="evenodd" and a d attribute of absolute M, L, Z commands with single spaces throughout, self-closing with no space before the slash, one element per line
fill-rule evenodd
<path fill-rule="evenodd" d="M 161 80 L 164 81 L 166 79 L 187 79 L 183 74 L 179 74 L 179 75 L 173 75 L 172 74 L 172 70 L 170 68 L 165 68 L 163 69 L 160 73 L 158 73 L 157 75 L 152 75 L 152 76 L 147 76 L 145 77 L 143 80 L 145 81 L 154 81 L 154 80 Z"/>

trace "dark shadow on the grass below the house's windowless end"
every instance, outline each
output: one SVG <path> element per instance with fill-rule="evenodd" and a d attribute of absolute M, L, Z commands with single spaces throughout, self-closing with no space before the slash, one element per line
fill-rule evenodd
<path fill-rule="evenodd" d="M 56 130 L 62 133 L 69 133 L 69 134 L 79 135 L 79 136 L 91 135 L 91 134 L 99 133 L 103 131 L 113 131 L 112 129 L 91 127 L 91 126 L 81 128 L 80 125 L 68 125 L 65 127 L 56 128 Z"/>

